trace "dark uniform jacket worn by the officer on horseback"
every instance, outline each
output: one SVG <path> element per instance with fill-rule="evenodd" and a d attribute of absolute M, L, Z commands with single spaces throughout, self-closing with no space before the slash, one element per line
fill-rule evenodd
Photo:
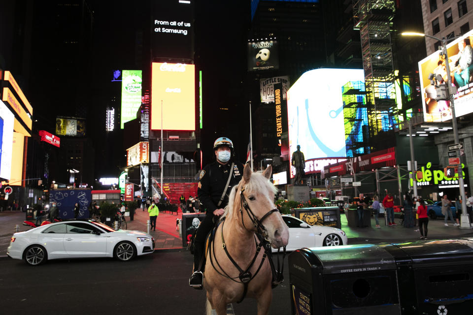
<path fill-rule="evenodd" d="M 222 165 L 219 162 L 215 161 L 210 164 L 207 164 L 200 175 L 199 186 L 197 189 L 197 194 L 199 200 L 203 205 L 203 208 L 207 212 L 207 216 L 213 216 L 213 212 L 217 209 L 224 208 L 228 204 L 228 196 L 232 188 L 238 185 L 239 181 L 243 176 L 243 164 L 240 162 L 234 161 L 234 168 L 232 173 L 232 178 L 229 183 L 229 188 L 225 193 L 225 197 L 220 204 L 217 206 L 223 191 L 225 190 L 225 185 L 228 181 L 228 176 L 230 174 L 230 166 L 232 161 L 229 161 L 226 165 Z"/>

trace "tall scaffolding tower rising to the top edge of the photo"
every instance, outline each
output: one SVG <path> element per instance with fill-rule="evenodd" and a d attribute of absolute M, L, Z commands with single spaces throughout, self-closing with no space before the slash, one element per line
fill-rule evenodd
<path fill-rule="evenodd" d="M 394 0 L 353 0 L 354 29 L 360 31 L 370 138 L 397 122 L 395 73 L 391 43 Z"/>

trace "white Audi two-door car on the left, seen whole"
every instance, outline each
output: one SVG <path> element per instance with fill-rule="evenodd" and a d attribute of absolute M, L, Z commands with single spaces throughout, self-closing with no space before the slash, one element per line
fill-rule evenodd
<path fill-rule="evenodd" d="M 14 233 L 6 254 L 36 266 L 59 258 L 115 257 L 128 261 L 153 251 L 154 238 L 144 232 L 116 231 L 94 220 L 74 220 Z"/>

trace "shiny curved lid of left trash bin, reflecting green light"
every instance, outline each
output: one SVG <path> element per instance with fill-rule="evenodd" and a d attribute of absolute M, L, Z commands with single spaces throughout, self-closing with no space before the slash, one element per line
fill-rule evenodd
<path fill-rule="evenodd" d="M 377 245 L 358 244 L 308 250 L 317 257 L 322 274 L 395 269 L 393 256 Z"/>

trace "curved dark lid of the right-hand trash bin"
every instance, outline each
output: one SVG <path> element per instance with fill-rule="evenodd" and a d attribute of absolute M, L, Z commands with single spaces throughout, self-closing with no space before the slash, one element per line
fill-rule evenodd
<path fill-rule="evenodd" d="M 392 244 L 412 259 L 413 267 L 425 264 L 473 263 L 473 239 L 428 240 Z M 391 252 L 396 260 L 396 254 Z"/>

